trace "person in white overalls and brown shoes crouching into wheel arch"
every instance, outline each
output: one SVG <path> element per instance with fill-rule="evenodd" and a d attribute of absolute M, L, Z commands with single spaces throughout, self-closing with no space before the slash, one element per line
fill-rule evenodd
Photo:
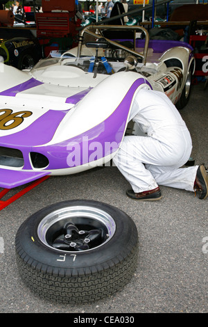
<path fill-rule="evenodd" d="M 135 97 L 130 119 L 146 136 L 125 136 L 113 161 L 137 200 L 159 200 L 158 185 L 208 195 L 205 166 L 180 168 L 189 160 L 192 143 L 187 126 L 171 100 L 159 91 L 142 88 Z"/>

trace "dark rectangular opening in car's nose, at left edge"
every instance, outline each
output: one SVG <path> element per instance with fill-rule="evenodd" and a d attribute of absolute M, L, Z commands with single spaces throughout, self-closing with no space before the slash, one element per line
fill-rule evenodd
<path fill-rule="evenodd" d="M 0 147 L 0 166 L 23 167 L 24 159 L 21 151 L 12 147 Z"/>

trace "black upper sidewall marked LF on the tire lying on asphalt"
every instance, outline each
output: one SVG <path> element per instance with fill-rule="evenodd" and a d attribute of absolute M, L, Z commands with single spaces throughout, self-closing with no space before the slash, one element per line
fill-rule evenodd
<path fill-rule="evenodd" d="M 43 244 L 37 235 L 37 227 L 42 219 L 57 209 L 73 205 L 92 206 L 110 214 L 116 223 L 112 238 L 97 248 L 81 252 L 60 251 Z M 123 261 L 137 242 L 135 223 L 120 209 L 92 200 L 69 200 L 46 207 L 26 219 L 16 235 L 16 250 L 24 262 L 39 266 L 43 272 L 51 270 L 64 276 L 80 276 L 82 273 L 92 273 L 92 266 L 98 272 Z"/>

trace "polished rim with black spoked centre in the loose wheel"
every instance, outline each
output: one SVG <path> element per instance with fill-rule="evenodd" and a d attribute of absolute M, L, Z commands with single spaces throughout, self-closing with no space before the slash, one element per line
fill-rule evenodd
<path fill-rule="evenodd" d="M 110 214 L 96 207 L 71 206 L 45 216 L 37 236 L 49 248 L 61 252 L 83 252 L 110 241 L 116 223 Z"/>

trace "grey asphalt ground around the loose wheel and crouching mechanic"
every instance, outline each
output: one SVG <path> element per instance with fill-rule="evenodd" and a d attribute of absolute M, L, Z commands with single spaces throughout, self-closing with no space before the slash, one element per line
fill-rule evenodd
<path fill-rule="evenodd" d="M 193 138 L 191 157 L 208 166 L 208 89 L 193 86 L 180 113 Z M 162 200 L 137 202 L 125 195 L 128 182 L 116 167 L 48 180 L 0 211 L 1 313 L 208 312 L 208 198 L 162 186 Z M 17 188 L 18 189 L 18 188 Z M 1 189 L 0 189 L 1 191 Z M 15 193 L 15 190 L 11 191 Z M 15 234 L 23 221 L 48 205 L 90 199 L 114 205 L 137 225 L 137 271 L 120 292 L 87 305 L 62 305 L 40 299 L 19 278 Z M 3 246 L 4 244 L 4 246 Z"/>

